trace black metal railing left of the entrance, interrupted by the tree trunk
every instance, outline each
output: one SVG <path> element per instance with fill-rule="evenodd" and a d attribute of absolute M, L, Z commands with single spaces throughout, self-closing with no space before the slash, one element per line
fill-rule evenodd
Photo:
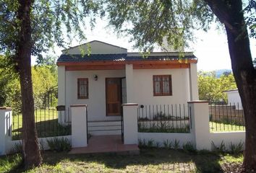
<path fill-rule="evenodd" d="M 54 107 L 46 109 L 35 108 L 35 128 L 38 138 L 71 135 L 71 118 L 67 110 L 57 110 Z M 12 140 L 22 139 L 22 114 L 12 115 Z"/>

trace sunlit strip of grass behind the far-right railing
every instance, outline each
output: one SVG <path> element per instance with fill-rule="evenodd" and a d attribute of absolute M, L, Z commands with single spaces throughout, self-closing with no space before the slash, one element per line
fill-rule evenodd
<path fill-rule="evenodd" d="M 228 132 L 228 131 L 244 131 L 243 125 L 234 125 L 228 123 L 210 122 L 210 132 Z"/>

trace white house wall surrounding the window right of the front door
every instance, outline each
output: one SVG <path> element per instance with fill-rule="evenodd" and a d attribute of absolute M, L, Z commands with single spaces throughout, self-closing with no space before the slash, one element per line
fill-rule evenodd
<path fill-rule="evenodd" d="M 153 75 L 171 75 L 172 96 L 153 96 Z M 134 70 L 134 99 L 139 105 L 179 104 L 189 101 L 189 70 L 142 69 Z"/>

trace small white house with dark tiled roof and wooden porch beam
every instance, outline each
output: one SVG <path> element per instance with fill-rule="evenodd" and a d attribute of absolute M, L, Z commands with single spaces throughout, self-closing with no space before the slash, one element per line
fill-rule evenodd
<path fill-rule="evenodd" d="M 63 50 L 57 66 L 58 105 L 66 110 L 70 105 L 88 105 L 88 130 L 93 135 L 120 133 L 114 126 L 124 103 L 198 100 L 197 58 L 190 52 L 182 58 L 177 52 L 153 52 L 143 58 L 94 40 Z"/>

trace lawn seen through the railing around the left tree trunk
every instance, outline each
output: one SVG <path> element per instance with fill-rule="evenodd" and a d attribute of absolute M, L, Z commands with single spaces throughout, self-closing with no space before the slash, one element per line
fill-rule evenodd
<path fill-rule="evenodd" d="M 56 109 L 35 110 L 35 125 L 38 137 L 69 135 L 70 126 L 64 127 L 58 123 L 58 112 Z M 12 120 L 12 139 L 22 137 L 22 115 L 14 115 Z"/>

